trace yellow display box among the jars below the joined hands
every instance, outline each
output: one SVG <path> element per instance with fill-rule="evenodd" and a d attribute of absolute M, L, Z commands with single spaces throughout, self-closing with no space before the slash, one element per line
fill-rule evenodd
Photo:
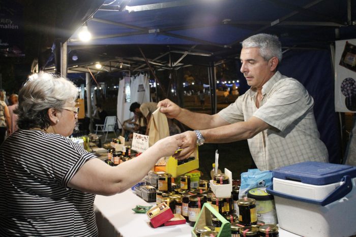
<path fill-rule="evenodd" d="M 178 165 L 178 160 L 176 160 L 174 157 L 169 157 L 166 164 L 166 172 L 175 178 L 190 171 L 197 170 L 199 168 L 198 146 L 191 156 L 194 156 L 194 160 L 180 165 Z"/>

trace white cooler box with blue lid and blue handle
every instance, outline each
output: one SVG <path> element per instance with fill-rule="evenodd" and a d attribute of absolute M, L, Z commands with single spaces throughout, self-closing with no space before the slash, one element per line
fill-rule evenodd
<path fill-rule="evenodd" d="M 279 226 L 305 237 L 356 234 L 356 167 L 302 162 L 273 171 Z"/>

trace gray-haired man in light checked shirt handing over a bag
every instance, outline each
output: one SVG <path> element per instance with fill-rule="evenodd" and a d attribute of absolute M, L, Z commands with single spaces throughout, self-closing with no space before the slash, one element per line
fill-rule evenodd
<path fill-rule="evenodd" d="M 192 113 L 165 99 L 162 113 L 197 129 L 185 132 L 184 148 L 177 158 L 189 156 L 196 144 L 248 140 L 259 170 L 303 162 L 328 162 L 319 139 L 313 98 L 304 86 L 277 71 L 282 59 L 276 36 L 258 34 L 242 43 L 241 72 L 251 88 L 215 115 Z"/>

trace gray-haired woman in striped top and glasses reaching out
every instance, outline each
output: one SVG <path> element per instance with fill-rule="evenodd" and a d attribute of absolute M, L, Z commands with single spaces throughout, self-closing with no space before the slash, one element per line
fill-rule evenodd
<path fill-rule="evenodd" d="M 50 74 L 20 90 L 19 129 L 0 147 L 0 236 L 97 236 L 95 194 L 125 191 L 182 145 L 180 135 L 167 137 L 109 166 L 66 138 L 77 118 L 77 93 Z"/>

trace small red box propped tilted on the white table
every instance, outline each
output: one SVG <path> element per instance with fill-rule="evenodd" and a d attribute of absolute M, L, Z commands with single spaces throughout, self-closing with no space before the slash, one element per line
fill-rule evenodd
<path fill-rule="evenodd" d="M 174 217 L 172 210 L 164 202 L 151 208 L 146 214 L 154 228 L 161 226 Z"/>

